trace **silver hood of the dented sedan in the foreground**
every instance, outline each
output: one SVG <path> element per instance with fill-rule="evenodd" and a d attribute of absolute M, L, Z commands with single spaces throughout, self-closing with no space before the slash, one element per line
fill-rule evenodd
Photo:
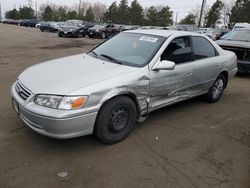
<path fill-rule="evenodd" d="M 34 94 L 66 95 L 137 69 L 80 54 L 33 65 L 18 79 Z"/>

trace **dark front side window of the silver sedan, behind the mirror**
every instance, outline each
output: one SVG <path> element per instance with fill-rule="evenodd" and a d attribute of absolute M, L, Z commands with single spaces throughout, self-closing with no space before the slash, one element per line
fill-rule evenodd
<path fill-rule="evenodd" d="M 189 37 L 174 39 L 161 55 L 161 60 L 173 61 L 176 64 L 192 60 L 192 49 Z"/>

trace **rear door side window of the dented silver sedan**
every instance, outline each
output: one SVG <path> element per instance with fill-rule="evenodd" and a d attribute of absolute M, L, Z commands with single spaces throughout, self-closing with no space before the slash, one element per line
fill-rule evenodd
<path fill-rule="evenodd" d="M 193 37 L 194 60 L 217 55 L 214 46 L 203 37 Z"/>

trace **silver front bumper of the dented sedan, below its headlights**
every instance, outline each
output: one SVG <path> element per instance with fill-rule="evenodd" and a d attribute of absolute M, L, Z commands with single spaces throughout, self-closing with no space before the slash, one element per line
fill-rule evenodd
<path fill-rule="evenodd" d="M 97 112 L 82 115 L 72 115 L 66 118 L 57 118 L 40 115 L 25 108 L 26 102 L 16 93 L 15 84 L 11 88 L 13 106 L 21 120 L 32 130 L 42 135 L 67 139 L 93 133 Z M 51 109 L 50 109 L 51 110 Z"/>

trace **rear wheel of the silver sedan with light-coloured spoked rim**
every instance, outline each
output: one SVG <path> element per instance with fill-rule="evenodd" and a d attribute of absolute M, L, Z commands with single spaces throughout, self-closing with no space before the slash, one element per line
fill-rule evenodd
<path fill-rule="evenodd" d="M 226 78 L 225 78 L 225 76 L 220 74 L 216 78 L 212 87 L 209 89 L 209 92 L 205 95 L 206 101 L 208 101 L 210 103 L 217 102 L 221 98 L 225 87 L 226 87 Z"/>

